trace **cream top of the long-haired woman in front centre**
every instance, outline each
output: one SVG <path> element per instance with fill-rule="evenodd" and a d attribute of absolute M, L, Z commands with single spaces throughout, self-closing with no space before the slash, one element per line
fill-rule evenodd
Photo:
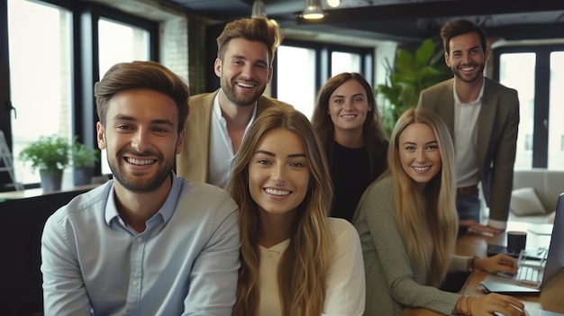
<path fill-rule="evenodd" d="M 327 293 L 323 314 L 325 316 L 362 315 L 365 304 L 364 263 L 359 233 L 349 221 L 329 218 L 327 221 L 335 244 L 335 257 L 327 277 Z M 271 247 L 260 249 L 259 315 L 280 316 L 277 266 L 290 239 Z"/>

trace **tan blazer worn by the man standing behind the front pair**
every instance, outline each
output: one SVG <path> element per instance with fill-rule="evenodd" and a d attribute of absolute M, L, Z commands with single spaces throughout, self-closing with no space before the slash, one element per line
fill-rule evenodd
<path fill-rule="evenodd" d="M 210 130 L 212 109 L 215 95 L 213 93 L 190 97 L 190 108 L 184 130 L 184 147 L 177 155 L 177 175 L 190 182 L 207 182 L 207 168 L 210 152 Z M 257 116 L 270 106 L 290 106 L 266 96 L 260 96 L 257 103 Z"/>

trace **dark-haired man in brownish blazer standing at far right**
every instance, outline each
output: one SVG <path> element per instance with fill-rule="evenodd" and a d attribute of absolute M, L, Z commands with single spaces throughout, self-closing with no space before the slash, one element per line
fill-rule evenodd
<path fill-rule="evenodd" d="M 489 57 L 485 33 L 455 20 L 441 28 L 444 59 L 454 77 L 422 91 L 418 106 L 439 113 L 455 146 L 460 232 L 499 233 L 506 228 L 513 173 L 519 99 L 517 91 L 484 77 Z M 489 219 L 480 224 L 478 183 Z"/>

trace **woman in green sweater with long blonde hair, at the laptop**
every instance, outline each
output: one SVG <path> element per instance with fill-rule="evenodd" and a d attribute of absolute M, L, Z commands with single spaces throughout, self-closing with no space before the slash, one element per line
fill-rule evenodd
<path fill-rule="evenodd" d="M 523 315 L 510 296 L 461 296 L 438 289 L 447 271 L 514 274 L 513 257 L 454 255 L 458 230 L 450 134 L 437 114 L 407 110 L 388 149 L 389 171 L 363 194 L 355 226 L 367 280 L 365 315 L 401 315 L 405 307 L 442 314 Z"/>

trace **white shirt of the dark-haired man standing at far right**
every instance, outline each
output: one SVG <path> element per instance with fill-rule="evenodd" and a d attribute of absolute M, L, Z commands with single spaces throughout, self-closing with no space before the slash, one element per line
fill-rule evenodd
<path fill-rule="evenodd" d="M 454 156 L 457 175 L 457 187 L 478 185 L 477 129 L 478 114 L 482 107 L 484 83 L 478 98 L 468 104 L 460 102 L 459 95 L 454 95 Z"/>

